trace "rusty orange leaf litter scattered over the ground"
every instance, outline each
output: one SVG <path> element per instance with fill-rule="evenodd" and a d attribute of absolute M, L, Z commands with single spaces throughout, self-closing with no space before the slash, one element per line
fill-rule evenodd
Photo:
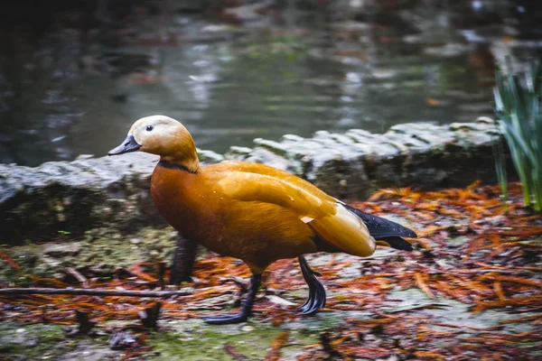
<path fill-rule="evenodd" d="M 379 190 L 353 207 L 406 220 L 418 239 L 415 251 L 388 248 L 366 259 L 350 255 L 311 255 L 328 292 L 322 313 L 339 322 L 322 327 L 299 360 L 313 359 L 496 359 L 534 360 L 542 356 L 542 217 L 521 204 L 519 184 L 510 184 L 503 204 L 496 186 L 421 192 Z M 14 268 L 18 265 L 3 253 Z M 156 264 L 134 264 L 111 279 L 75 277 L 75 283 L 26 276 L 25 285 L 111 290 L 164 288 Z M 19 271 L 19 270 L 18 270 Z M 79 273 L 78 273 L 79 274 Z M 209 253 L 194 268 L 194 282 L 182 285 L 182 297 L 162 301 L 135 297 L 69 295 L 0 296 L 4 320 L 78 325 L 77 332 L 104 329 L 124 359 L 145 358 L 145 330 L 167 319 L 197 319 L 201 313 L 238 307 L 250 273 L 240 261 Z M 162 283 L 162 284 L 161 284 Z M 16 286 L 16 285 L 10 285 Z M 417 291 L 416 291 L 417 290 Z M 265 294 L 273 296 L 266 297 Z M 297 261 L 281 260 L 265 274 L 251 324 L 285 327 L 299 321 L 296 306 L 306 297 Z M 283 300 L 283 301 L 277 301 Z M 294 302 L 295 305 L 292 305 Z M 453 307 L 452 307 L 453 306 Z M 452 307 L 450 309 L 450 307 Z M 454 313 L 455 310 L 463 310 Z M 369 317 L 351 317 L 352 312 Z M 492 313 L 491 313 L 492 312 Z M 158 317 L 158 314 L 160 316 Z M 484 316 L 481 318 L 481 316 Z M 81 319 L 84 321 L 81 324 Z M 137 321 L 140 329 L 115 329 L 108 321 Z M 510 328 L 512 327 L 512 328 Z M 515 328 L 513 328 L 515 327 Z M 269 340 L 268 360 L 294 344 L 289 330 Z M 237 346 L 223 346 L 236 359 Z M 250 359 L 248 357 L 247 359 Z"/>

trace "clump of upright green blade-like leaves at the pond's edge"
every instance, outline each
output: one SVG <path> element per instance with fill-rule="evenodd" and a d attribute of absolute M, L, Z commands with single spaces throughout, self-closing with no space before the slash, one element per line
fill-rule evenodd
<path fill-rule="evenodd" d="M 498 70 L 495 114 L 512 162 L 518 171 L 526 206 L 542 210 L 542 66 L 539 61 L 524 71 L 523 79 L 512 71 L 511 60 Z M 507 196 L 506 168 L 502 144 L 496 146 L 497 176 L 504 197 Z"/>

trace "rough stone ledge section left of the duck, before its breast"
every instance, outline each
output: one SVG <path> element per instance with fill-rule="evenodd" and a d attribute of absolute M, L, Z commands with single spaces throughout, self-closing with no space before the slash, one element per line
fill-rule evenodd
<path fill-rule="evenodd" d="M 149 194 L 157 157 L 46 162 L 36 168 L 0 164 L 0 241 L 14 244 L 78 237 L 91 228 L 128 230 L 164 225 Z"/>

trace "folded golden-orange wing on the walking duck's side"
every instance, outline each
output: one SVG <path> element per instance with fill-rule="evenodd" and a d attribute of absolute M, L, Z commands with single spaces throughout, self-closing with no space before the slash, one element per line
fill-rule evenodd
<path fill-rule="evenodd" d="M 293 211 L 324 242 L 350 255 L 372 255 L 376 242 L 363 221 L 336 199 L 305 181 L 229 171 L 217 181 L 229 199 L 275 204 Z M 279 227 L 280 225 L 277 225 Z"/>

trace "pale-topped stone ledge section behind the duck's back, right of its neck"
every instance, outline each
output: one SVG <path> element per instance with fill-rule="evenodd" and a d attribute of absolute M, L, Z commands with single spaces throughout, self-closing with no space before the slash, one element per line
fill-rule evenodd
<path fill-rule="evenodd" d="M 352 129 L 285 135 L 279 142 L 256 139 L 254 149 L 232 147 L 226 160 L 264 162 L 310 180 L 336 197 L 365 199 L 378 188 L 424 190 L 462 187 L 474 180 L 496 182 L 491 118 L 474 123 L 392 126 L 386 134 Z"/>

